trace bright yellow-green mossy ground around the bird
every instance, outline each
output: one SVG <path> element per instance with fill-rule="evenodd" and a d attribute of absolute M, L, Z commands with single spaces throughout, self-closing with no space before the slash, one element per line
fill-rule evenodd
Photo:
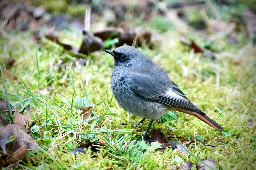
<path fill-rule="evenodd" d="M 131 25 L 136 25 L 136 22 L 131 21 Z M 163 22 L 166 21 L 163 20 Z M 143 24 L 146 28 L 156 31 L 157 28 L 152 27 L 153 23 L 152 21 L 152 23 Z M 161 32 L 162 29 L 160 28 L 158 31 Z M 105 169 L 113 166 L 112 169 L 119 169 L 121 166 L 115 162 L 118 159 L 111 156 L 107 150 L 101 149 L 98 154 L 92 156 L 88 149 L 86 155 L 74 156 L 68 153 L 72 147 L 67 145 L 67 141 L 73 147 L 80 145 L 81 142 L 97 141 L 95 136 L 98 135 L 101 124 L 109 115 L 113 117 L 105 122 L 104 126 L 108 130 L 116 130 L 111 133 L 113 137 L 119 130 L 128 129 L 121 136 L 127 135 L 127 138 L 137 140 L 137 138 L 141 138 L 140 133 L 143 134 L 146 129 L 147 121 L 136 129 L 133 124 L 140 121 L 140 118 L 124 111 L 114 98 L 111 101 L 110 77 L 114 59 L 103 51 L 97 51 L 86 57 L 86 66 L 81 66 L 79 62 L 70 57 L 72 56 L 70 51 L 66 51 L 54 42 L 42 38 L 37 45 L 29 38 L 31 34 L 29 31 L 10 34 L 15 34 L 12 35 L 12 40 L 6 37 L 1 37 L 0 40 L 1 46 L 9 46 L 0 49 L 1 65 L 3 65 L 5 57 L 13 57 L 16 60 L 9 69 L 9 72 L 15 76 L 10 80 L 8 80 L 9 77 L 4 76 L 5 82 L 8 81 L 10 84 L 6 84 L 8 97 L 16 109 L 23 110 L 24 107 L 30 106 L 30 112 L 26 114 L 31 115 L 31 120 L 38 125 L 40 133 L 37 132 L 34 136 L 37 136 L 35 141 L 41 148 L 36 153 L 29 151 L 26 158 L 17 163 L 15 167 Z M 219 169 L 255 169 L 255 47 L 251 45 L 252 43 L 243 32 L 238 35 L 238 44 L 236 45 L 229 43 L 227 37 L 223 36 L 213 44 L 222 52 L 219 53 L 218 59 L 213 60 L 201 53 L 194 53 L 193 50 L 184 46 L 180 43 L 178 35 L 180 35 L 180 31 L 169 30 L 161 34 L 162 41 L 155 43 L 153 49 L 149 49 L 146 44 L 138 49 L 166 70 L 169 77 L 181 85 L 180 89 L 186 91 L 186 96 L 191 102 L 204 110 L 211 119 L 216 120 L 226 133 L 221 135 L 197 118 L 178 112 L 175 112 L 178 116 L 177 119 L 160 124 L 154 122 L 152 128 L 161 128 L 166 136 L 174 134 L 191 138 L 194 136 L 195 129 L 195 134 L 204 135 L 202 140 L 207 143 L 225 145 L 223 148 L 204 147 L 203 145 L 196 148 L 190 147 L 190 152 L 199 159 L 213 157 Z M 82 35 L 72 30 L 60 30 L 60 37 L 62 42 L 77 47 L 82 42 Z M 193 35 L 193 39 L 198 43 L 204 41 L 195 35 Z M 65 63 L 58 63 L 60 60 Z M 188 68 L 187 75 L 182 70 L 184 66 Z M 48 93 L 45 96 L 56 104 L 32 91 L 38 99 L 47 103 L 40 102 L 42 108 L 30 94 L 25 94 L 17 89 L 20 88 L 28 92 L 20 79 L 26 86 L 37 91 L 47 89 Z M 78 103 L 86 100 L 81 79 L 85 84 L 89 103 Z M 3 82 L 0 83 L 0 89 L 3 89 Z M 2 98 L 6 98 L 4 90 L 1 90 L 1 95 Z M 72 98 L 76 98 L 77 103 L 74 101 L 71 104 Z M 77 139 L 80 122 L 76 107 L 81 105 L 94 105 L 92 117 L 95 116 L 95 119 L 82 124 L 81 132 L 84 132 L 83 135 L 91 132 L 90 138 Z M 67 113 L 74 116 L 75 121 Z M 97 115 L 102 117 L 98 119 Z M 46 117 L 51 122 L 48 122 L 47 126 L 42 126 Z M 126 123 L 126 125 L 121 125 L 121 123 Z M 129 129 L 136 130 L 129 132 Z M 62 132 L 62 135 L 65 132 L 72 132 L 66 136 L 60 136 L 59 131 Z M 106 135 L 106 132 L 103 134 Z M 223 140 L 218 141 L 218 139 Z M 196 169 L 197 163 L 193 156 L 186 157 L 179 152 L 174 153 L 170 148 L 164 152 L 151 150 L 143 157 L 143 160 L 139 161 L 136 169 L 169 169 L 171 164 L 179 165 L 186 161 L 192 162 L 194 164 L 192 169 Z M 127 168 L 133 169 L 134 166 L 135 164 L 131 163 Z"/>

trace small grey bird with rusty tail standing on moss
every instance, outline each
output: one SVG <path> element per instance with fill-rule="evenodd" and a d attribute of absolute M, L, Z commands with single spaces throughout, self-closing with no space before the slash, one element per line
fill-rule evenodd
<path fill-rule="evenodd" d="M 205 112 L 192 104 L 166 72 L 137 48 L 121 46 L 103 50 L 115 59 L 111 88 L 120 106 L 129 113 L 150 119 L 143 139 L 154 120 L 168 111 L 179 111 L 197 117 L 219 132 L 224 129 Z M 137 124 L 137 125 L 138 125 Z"/>

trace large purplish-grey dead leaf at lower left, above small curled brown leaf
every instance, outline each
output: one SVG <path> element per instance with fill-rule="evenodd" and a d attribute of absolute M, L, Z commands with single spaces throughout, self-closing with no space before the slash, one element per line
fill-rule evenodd
<path fill-rule="evenodd" d="M 12 136 L 15 137 L 15 140 L 8 142 Z M 11 154 L 18 150 L 22 145 L 26 145 L 31 149 L 38 148 L 37 143 L 32 140 L 31 136 L 18 126 L 14 124 L 8 124 L 4 127 L 0 126 L 0 147 L 2 148 L 4 154 Z"/>

